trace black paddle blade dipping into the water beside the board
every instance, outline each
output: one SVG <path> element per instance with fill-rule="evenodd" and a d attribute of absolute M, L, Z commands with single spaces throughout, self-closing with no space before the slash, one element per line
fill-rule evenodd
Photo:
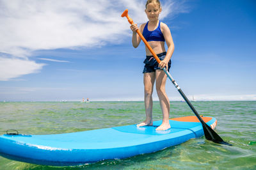
<path fill-rule="evenodd" d="M 204 135 L 207 140 L 213 141 L 214 143 L 227 144 L 232 146 L 232 144 L 227 143 L 221 139 L 220 135 L 218 135 L 211 127 L 209 127 L 206 123 L 202 123 L 204 128 Z"/>

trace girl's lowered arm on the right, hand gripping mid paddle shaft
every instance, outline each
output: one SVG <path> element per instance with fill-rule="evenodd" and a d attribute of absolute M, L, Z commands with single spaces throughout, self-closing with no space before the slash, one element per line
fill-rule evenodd
<path fill-rule="evenodd" d="M 169 27 L 166 24 L 164 24 L 163 22 L 161 22 L 161 24 L 163 24 L 161 26 L 161 29 L 162 29 L 161 31 L 164 35 L 164 39 L 165 39 L 167 47 L 168 47 L 165 58 L 163 59 L 163 61 L 161 61 L 161 63 L 159 63 L 160 68 L 164 68 L 165 66 L 166 67 L 168 66 L 168 62 L 172 58 L 172 54 L 174 51 L 174 43 L 172 40 L 172 35 L 171 35 L 171 31 L 170 31 Z"/>

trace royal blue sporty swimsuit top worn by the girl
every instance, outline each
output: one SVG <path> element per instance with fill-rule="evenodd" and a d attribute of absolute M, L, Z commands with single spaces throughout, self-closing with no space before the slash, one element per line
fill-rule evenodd
<path fill-rule="evenodd" d="M 154 31 L 148 31 L 148 22 L 147 22 L 146 26 L 143 29 L 143 33 L 142 33 L 142 35 L 147 40 L 147 42 L 152 42 L 152 41 L 164 42 L 165 41 L 164 35 L 160 28 L 160 24 L 161 24 L 161 21 L 159 20 L 159 24 L 158 24 L 157 28 Z"/>

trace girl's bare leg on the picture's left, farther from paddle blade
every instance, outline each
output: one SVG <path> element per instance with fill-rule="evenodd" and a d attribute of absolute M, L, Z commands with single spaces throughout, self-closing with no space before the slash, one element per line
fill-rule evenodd
<path fill-rule="evenodd" d="M 156 73 L 144 73 L 143 81 L 144 81 L 144 102 L 145 102 L 145 111 L 146 111 L 146 120 L 142 123 L 138 124 L 137 127 L 143 127 L 147 125 L 153 125 L 152 120 L 152 93 L 154 88 L 154 82 L 156 79 Z"/>

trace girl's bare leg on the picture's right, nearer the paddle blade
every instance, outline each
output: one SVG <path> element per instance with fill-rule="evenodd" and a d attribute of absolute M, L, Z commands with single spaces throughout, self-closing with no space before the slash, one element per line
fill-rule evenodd
<path fill-rule="evenodd" d="M 171 128 L 169 123 L 170 101 L 165 92 L 167 75 L 163 70 L 156 70 L 156 91 L 163 112 L 163 123 L 156 130 L 167 130 Z"/>

